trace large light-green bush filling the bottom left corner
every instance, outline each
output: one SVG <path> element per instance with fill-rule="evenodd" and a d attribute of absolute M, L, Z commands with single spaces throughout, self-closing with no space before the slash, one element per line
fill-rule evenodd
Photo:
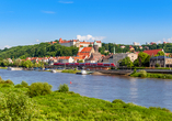
<path fill-rule="evenodd" d="M 22 92 L 0 94 L 0 120 L 31 121 L 37 110 L 32 100 Z"/>

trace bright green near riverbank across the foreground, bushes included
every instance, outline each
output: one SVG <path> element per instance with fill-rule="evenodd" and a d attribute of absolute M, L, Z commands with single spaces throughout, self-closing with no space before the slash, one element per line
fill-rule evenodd
<path fill-rule="evenodd" d="M 51 86 L 49 87 L 46 82 L 37 82 L 37 88 L 39 89 L 33 90 L 36 84 L 27 86 L 26 82 L 14 86 L 10 80 L 2 81 L 1 79 L 0 119 L 27 118 L 33 121 L 172 120 L 171 111 L 164 108 L 145 108 L 134 103 L 125 103 L 122 100 L 110 102 L 80 96 L 79 94 L 68 91 L 68 89 L 66 92 L 59 91 L 60 89 L 58 91 L 47 91 Z M 43 89 L 42 86 L 47 88 Z M 61 88 L 61 90 L 65 89 Z M 8 107 L 3 103 L 7 103 Z M 22 105 L 24 105 L 24 109 Z M 12 113 L 9 110 L 11 110 Z"/>

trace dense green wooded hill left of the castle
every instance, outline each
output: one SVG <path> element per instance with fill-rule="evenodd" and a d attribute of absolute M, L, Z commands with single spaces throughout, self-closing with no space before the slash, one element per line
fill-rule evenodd
<path fill-rule="evenodd" d="M 78 47 L 61 46 L 58 43 L 39 43 L 35 45 L 14 46 L 11 48 L 0 50 L 1 58 L 26 58 L 44 56 L 73 56 L 77 55 Z"/>

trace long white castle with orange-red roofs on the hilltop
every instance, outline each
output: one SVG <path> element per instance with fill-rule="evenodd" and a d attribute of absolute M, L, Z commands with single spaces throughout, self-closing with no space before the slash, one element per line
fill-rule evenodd
<path fill-rule="evenodd" d="M 102 47 L 102 42 L 101 41 L 96 41 L 98 43 L 98 46 L 99 47 Z M 69 40 L 69 41 L 64 41 L 62 38 L 59 38 L 59 44 L 62 45 L 62 46 L 83 46 L 83 47 L 88 47 L 89 45 L 90 46 L 93 46 L 93 42 L 80 42 L 79 40 Z"/>

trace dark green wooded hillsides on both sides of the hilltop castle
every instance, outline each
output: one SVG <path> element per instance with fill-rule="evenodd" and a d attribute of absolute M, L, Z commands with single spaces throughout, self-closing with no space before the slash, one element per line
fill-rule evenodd
<path fill-rule="evenodd" d="M 71 46 L 66 47 L 58 44 L 58 41 L 55 44 L 49 43 L 39 43 L 35 45 L 25 45 L 25 46 L 14 46 L 11 48 L 0 50 L 0 59 L 2 58 L 21 58 L 26 57 L 45 57 L 45 56 L 74 56 L 78 53 L 78 47 Z M 124 45 L 125 48 L 121 46 L 124 44 L 113 44 L 113 43 L 102 43 L 102 47 L 99 48 L 101 54 L 107 55 L 108 53 L 126 53 L 129 52 L 130 45 Z M 163 48 L 165 53 L 172 53 L 172 43 L 167 44 L 153 44 L 153 45 L 141 45 L 142 50 L 139 46 L 131 45 L 135 48 L 135 52 L 145 51 L 146 46 L 149 50 Z"/>

